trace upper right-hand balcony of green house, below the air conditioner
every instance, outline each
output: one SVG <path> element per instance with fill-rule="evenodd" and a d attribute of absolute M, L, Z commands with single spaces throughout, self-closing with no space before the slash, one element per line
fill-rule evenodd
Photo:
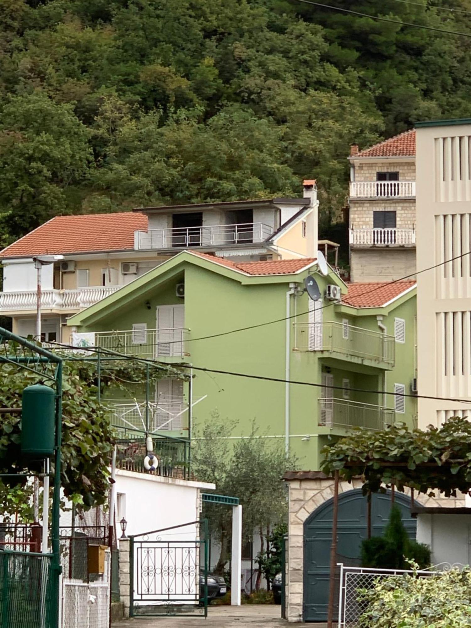
<path fill-rule="evenodd" d="M 293 323 L 295 351 L 318 351 L 323 357 L 392 369 L 394 336 L 343 323 Z"/>

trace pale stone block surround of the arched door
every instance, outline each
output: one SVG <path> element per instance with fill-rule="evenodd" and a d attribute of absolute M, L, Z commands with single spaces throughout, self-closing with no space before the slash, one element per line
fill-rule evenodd
<path fill-rule="evenodd" d="M 294 474 L 293 474 L 294 475 Z M 320 475 L 319 472 L 300 472 L 298 475 Z M 303 567 L 304 567 L 304 522 L 319 506 L 333 497 L 333 478 L 290 479 L 289 485 L 290 518 L 288 522 L 288 570 L 286 577 L 286 619 L 289 622 L 303 620 Z M 362 481 L 352 484 L 340 482 L 338 493 L 360 489 Z M 408 491 L 406 491 L 408 492 Z M 420 506 L 465 506 L 462 499 L 433 498 L 420 495 L 416 498 Z"/>

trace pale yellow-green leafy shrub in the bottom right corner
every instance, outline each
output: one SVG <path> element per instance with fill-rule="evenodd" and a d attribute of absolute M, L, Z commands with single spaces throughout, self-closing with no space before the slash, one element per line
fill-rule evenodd
<path fill-rule="evenodd" d="M 471 626 L 471 572 L 452 569 L 426 577 L 414 573 L 377 578 L 359 590 L 366 606 L 357 628 L 463 628 Z"/>

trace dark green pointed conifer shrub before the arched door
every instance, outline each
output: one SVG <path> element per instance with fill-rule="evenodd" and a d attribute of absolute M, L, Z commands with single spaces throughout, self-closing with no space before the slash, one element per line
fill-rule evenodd
<path fill-rule="evenodd" d="M 372 536 L 362 541 L 362 566 L 379 569 L 408 569 L 408 559 L 421 569 L 430 566 L 430 548 L 409 539 L 404 528 L 401 511 L 391 509 L 384 536 Z"/>

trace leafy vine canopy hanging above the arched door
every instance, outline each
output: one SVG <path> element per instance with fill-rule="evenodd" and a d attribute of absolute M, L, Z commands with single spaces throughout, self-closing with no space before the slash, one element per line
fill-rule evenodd
<path fill-rule="evenodd" d="M 445 497 L 471 490 L 471 423 L 466 418 L 450 418 L 441 428 L 409 430 L 405 423 L 373 432 L 355 428 L 322 449 L 323 472 L 351 482 L 361 475 L 362 491 L 384 492 L 394 484 L 421 493 Z"/>

